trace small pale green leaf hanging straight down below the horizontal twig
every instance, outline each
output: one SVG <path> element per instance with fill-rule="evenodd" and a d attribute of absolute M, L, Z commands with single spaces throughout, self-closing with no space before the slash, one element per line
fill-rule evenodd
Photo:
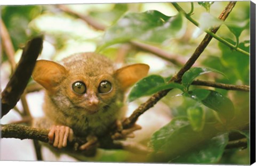
<path fill-rule="evenodd" d="M 194 131 L 201 131 L 205 123 L 205 111 L 201 106 L 189 107 L 187 110 L 188 119 Z"/>

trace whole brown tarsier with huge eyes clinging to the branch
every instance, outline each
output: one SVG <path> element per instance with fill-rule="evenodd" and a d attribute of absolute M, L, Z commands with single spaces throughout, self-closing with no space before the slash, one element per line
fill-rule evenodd
<path fill-rule="evenodd" d="M 45 117 L 35 120 L 34 127 L 50 129 L 49 143 L 58 148 L 74 135 L 84 136 L 87 143 L 79 149 L 86 150 L 124 118 L 124 94 L 148 70 L 141 63 L 116 70 L 112 61 L 96 53 L 74 54 L 60 63 L 38 60 L 32 76 L 45 88 Z M 136 129 L 123 133 L 129 137 Z"/>

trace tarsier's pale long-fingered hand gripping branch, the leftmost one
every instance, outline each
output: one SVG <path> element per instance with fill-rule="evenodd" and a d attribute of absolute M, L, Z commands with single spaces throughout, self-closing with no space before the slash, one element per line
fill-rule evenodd
<path fill-rule="evenodd" d="M 66 147 L 67 141 L 71 142 L 73 137 L 74 132 L 68 126 L 53 125 L 48 133 L 49 143 L 58 148 Z"/>

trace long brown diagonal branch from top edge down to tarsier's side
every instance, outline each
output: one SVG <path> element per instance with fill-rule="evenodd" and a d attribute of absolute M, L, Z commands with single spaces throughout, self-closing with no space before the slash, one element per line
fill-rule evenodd
<path fill-rule="evenodd" d="M 236 2 L 230 2 L 225 7 L 225 9 L 221 12 L 219 19 L 221 19 L 223 21 L 226 20 L 227 16 L 231 12 L 231 10 L 235 6 L 235 4 L 236 4 Z M 212 30 L 212 32 L 216 33 L 218 31 L 218 29 L 219 29 L 219 27 L 215 27 Z M 209 34 L 206 34 L 206 36 L 201 41 L 199 46 L 196 48 L 193 55 L 191 55 L 191 57 L 187 61 L 187 63 L 179 70 L 179 72 L 177 74 L 175 74 L 175 76 L 172 77 L 172 79 L 169 82 L 180 82 L 181 81 L 183 74 L 193 66 L 193 64 L 196 62 L 198 57 L 202 54 L 204 49 L 210 43 L 211 39 L 212 39 L 212 36 Z M 153 96 L 151 96 L 148 99 L 148 101 L 146 101 L 145 103 L 142 103 L 136 110 L 133 111 L 133 113 L 130 115 L 129 118 L 126 118 L 123 121 L 124 128 L 131 127 L 138 120 L 138 118 L 140 117 L 141 114 L 143 114 L 145 111 L 147 111 L 148 109 L 153 107 L 161 98 L 163 98 L 165 95 L 167 95 L 167 93 L 169 93 L 170 90 L 171 89 L 162 90 L 161 92 L 158 92 L 158 93 L 154 94 Z"/>

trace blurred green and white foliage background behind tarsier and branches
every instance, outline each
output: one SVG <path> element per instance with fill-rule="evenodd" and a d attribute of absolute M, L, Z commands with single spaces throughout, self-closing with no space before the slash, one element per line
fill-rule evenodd
<path fill-rule="evenodd" d="M 39 59 L 59 61 L 73 53 L 97 51 L 115 61 L 118 67 L 132 63 L 147 63 L 150 65 L 150 75 L 170 78 L 180 70 L 203 40 L 205 32 L 202 29 L 222 24 L 217 34 L 249 52 L 250 1 L 237 2 L 225 21 L 227 23 L 216 21 L 228 3 L 194 2 L 191 17 L 199 22 L 201 29 L 181 15 L 172 3 L 1 6 L 1 19 L 15 49 L 15 62 L 19 61 L 26 41 L 35 35 L 43 34 L 43 51 Z M 190 2 L 178 4 L 186 12 L 191 9 Z M 166 54 L 159 56 L 141 44 Z M 1 49 L 1 54 L 1 89 L 4 89 L 11 75 L 11 66 L 4 49 Z M 249 63 L 250 56 L 212 39 L 194 67 L 211 68 L 223 73 L 203 74 L 199 76 L 202 80 L 249 85 Z M 153 79 L 154 81 L 156 80 Z M 34 84 L 33 80 L 29 82 L 29 85 Z M 174 89 L 152 109 L 141 115 L 138 123 L 142 130 L 135 132 L 134 139 L 127 140 L 149 146 L 153 148 L 154 153 L 138 155 L 123 150 L 99 150 L 93 159 L 83 157 L 82 160 L 154 162 L 152 159 L 160 152 L 175 152 L 176 157 L 167 155 L 167 159 L 165 157 L 159 162 L 249 164 L 249 92 L 190 86 L 190 89 L 198 88 L 214 90 L 234 105 L 234 118 L 227 126 L 223 124 L 220 128 L 225 129 L 221 129 L 218 134 L 210 138 L 204 137 L 211 135 L 212 124 L 223 123 L 218 118 L 218 113 L 213 111 L 211 106 L 202 104 L 202 101 L 198 102 L 191 96 L 183 95 L 182 90 Z M 41 91 L 27 94 L 29 109 L 34 117 L 42 115 L 42 95 Z M 137 96 L 135 101 L 129 103 L 128 114 L 147 98 Z M 212 98 L 209 99 L 210 104 L 218 105 Z M 218 97 L 217 101 L 221 102 Z M 17 109 L 22 111 L 20 103 Z M 1 119 L 1 124 L 18 120 L 22 120 L 22 116 L 12 110 Z M 235 122 L 241 125 L 236 126 Z M 212 133 L 214 132 L 215 128 Z M 239 139 L 234 141 L 245 139 L 248 146 L 226 148 L 232 135 L 238 135 Z M 36 160 L 33 144 L 25 142 L 1 139 L 1 160 Z M 8 148 L 10 144 L 16 145 L 15 149 L 13 148 L 15 152 Z M 194 146 L 189 147 L 191 144 Z M 29 152 L 22 154 L 23 151 L 19 152 L 22 148 L 29 148 Z M 77 158 L 67 155 L 54 158 L 46 149 L 43 156 L 48 161 L 76 161 Z"/>

